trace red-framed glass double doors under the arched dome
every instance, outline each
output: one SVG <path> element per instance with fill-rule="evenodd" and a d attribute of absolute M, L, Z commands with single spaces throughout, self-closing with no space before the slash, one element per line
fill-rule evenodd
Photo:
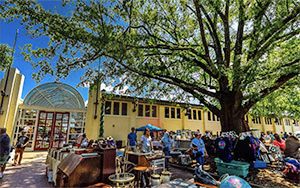
<path fill-rule="evenodd" d="M 67 141 L 69 112 L 40 111 L 34 150 L 62 147 Z"/>

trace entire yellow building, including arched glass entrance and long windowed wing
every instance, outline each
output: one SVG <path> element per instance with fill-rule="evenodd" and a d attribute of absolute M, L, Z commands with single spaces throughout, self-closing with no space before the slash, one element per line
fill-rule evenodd
<path fill-rule="evenodd" d="M 60 82 L 39 85 L 22 101 L 23 82 L 24 76 L 14 68 L 0 81 L 1 91 L 6 85 L 0 100 L 0 127 L 7 128 L 14 143 L 21 131 L 26 131 L 30 138 L 27 150 L 47 150 L 74 143 L 84 132 L 88 138 L 97 139 L 102 119 L 104 136 L 123 141 L 131 127 L 149 123 L 172 131 L 189 129 L 214 134 L 221 131 L 219 118 L 200 105 L 103 94 L 94 88 L 85 107 L 79 92 Z M 264 132 L 300 131 L 299 122 L 288 118 L 246 118 L 252 129 Z"/>

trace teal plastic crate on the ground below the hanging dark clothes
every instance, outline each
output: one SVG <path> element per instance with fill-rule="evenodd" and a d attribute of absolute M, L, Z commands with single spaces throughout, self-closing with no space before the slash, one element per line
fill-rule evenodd
<path fill-rule="evenodd" d="M 225 163 L 219 158 L 215 158 L 217 165 L 217 171 L 219 175 L 229 174 L 235 176 L 246 177 L 249 173 L 249 163 L 241 161 L 231 161 L 230 163 Z"/>

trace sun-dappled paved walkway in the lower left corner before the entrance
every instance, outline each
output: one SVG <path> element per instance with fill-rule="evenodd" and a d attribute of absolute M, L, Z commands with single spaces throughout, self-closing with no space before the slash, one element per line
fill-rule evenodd
<path fill-rule="evenodd" d="M 24 152 L 22 164 L 18 166 L 12 166 L 10 160 L 0 180 L 0 187 L 53 187 L 46 178 L 46 156 L 47 152 Z"/>

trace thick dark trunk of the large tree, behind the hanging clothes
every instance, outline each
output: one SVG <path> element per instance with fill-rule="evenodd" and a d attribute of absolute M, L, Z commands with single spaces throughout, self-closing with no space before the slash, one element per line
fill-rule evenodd
<path fill-rule="evenodd" d="M 249 125 L 245 121 L 245 112 L 242 108 L 241 94 L 229 93 L 220 100 L 220 121 L 222 132 L 235 131 L 236 133 L 249 131 Z"/>

